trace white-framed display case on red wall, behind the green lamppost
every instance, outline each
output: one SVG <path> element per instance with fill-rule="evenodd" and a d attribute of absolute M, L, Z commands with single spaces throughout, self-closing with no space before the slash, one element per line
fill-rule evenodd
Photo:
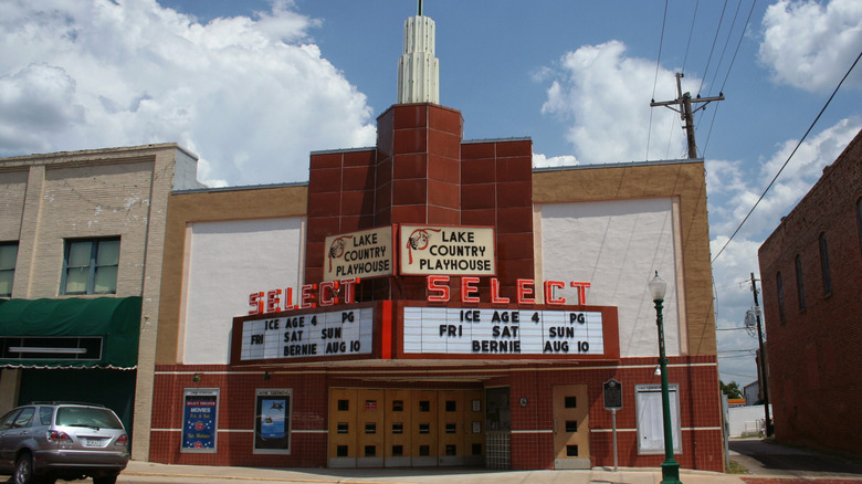
<path fill-rule="evenodd" d="M 664 453 L 664 414 L 662 412 L 661 385 L 639 385 L 634 387 L 635 410 L 638 411 L 638 453 Z M 680 397 L 677 385 L 669 387 L 671 403 L 671 438 L 673 452 L 682 453 L 682 429 L 680 428 Z"/>

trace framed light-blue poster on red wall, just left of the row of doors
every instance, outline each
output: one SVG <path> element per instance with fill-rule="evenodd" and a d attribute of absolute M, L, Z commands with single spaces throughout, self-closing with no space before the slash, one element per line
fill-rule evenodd
<path fill-rule="evenodd" d="M 291 453 L 293 390 L 257 389 L 254 399 L 254 453 Z"/>

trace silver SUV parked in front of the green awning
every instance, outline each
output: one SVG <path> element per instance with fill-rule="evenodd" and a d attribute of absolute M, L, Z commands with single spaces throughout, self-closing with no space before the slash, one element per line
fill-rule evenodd
<path fill-rule="evenodd" d="M 105 407 L 32 402 L 0 418 L 0 474 L 14 484 L 114 484 L 127 463 L 128 434 Z"/>

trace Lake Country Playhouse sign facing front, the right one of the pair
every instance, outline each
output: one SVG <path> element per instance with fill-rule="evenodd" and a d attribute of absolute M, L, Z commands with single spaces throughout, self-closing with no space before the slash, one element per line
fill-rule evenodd
<path fill-rule="evenodd" d="M 495 275 L 491 227 L 401 225 L 402 275 Z"/>

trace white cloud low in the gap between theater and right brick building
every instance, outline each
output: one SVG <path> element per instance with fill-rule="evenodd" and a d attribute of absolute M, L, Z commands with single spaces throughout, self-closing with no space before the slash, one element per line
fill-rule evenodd
<path fill-rule="evenodd" d="M 757 251 L 778 228 L 780 218 L 808 193 L 820 179 L 823 168 L 841 155 L 860 129 L 862 120 L 842 119 L 802 143 L 746 224 L 726 246 L 727 239 L 781 168 L 798 140 L 789 139 L 778 146 L 775 155 L 763 161 L 759 172 L 754 175 L 748 175 L 742 161 L 706 160 L 712 256 L 716 257 L 724 248 L 713 263 L 716 327 L 743 327 L 745 312 L 754 305 L 750 273 L 759 277 Z M 717 332 L 717 338 L 722 379 L 725 382 L 736 380 L 742 385 L 754 381 L 754 355 L 738 350 L 756 348 L 757 339 L 739 329 Z"/>

